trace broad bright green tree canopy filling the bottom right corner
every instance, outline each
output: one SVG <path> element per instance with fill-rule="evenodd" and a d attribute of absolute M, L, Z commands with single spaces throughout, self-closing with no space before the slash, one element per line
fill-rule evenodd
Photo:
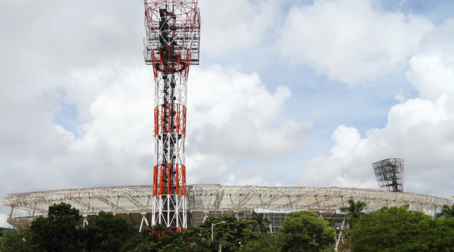
<path fill-rule="evenodd" d="M 454 219 L 432 219 L 404 207 L 382 208 L 355 222 L 352 251 L 454 251 Z"/>

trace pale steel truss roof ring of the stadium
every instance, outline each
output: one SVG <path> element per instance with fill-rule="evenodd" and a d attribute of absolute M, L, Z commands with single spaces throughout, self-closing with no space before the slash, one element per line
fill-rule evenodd
<path fill-rule="evenodd" d="M 79 188 L 12 194 L 5 206 L 25 210 L 22 216 L 47 215 L 48 207 L 61 202 L 71 204 L 82 215 L 105 212 L 149 212 L 152 205 L 151 185 Z M 335 211 L 348 205 L 349 199 L 366 203 L 367 211 L 383 206 L 409 204 L 410 210 L 435 214 L 449 200 L 412 193 L 345 187 L 188 185 L 188 210 L 305 209 Z M 10 218 L 12 216 L 10 215 Z"/>

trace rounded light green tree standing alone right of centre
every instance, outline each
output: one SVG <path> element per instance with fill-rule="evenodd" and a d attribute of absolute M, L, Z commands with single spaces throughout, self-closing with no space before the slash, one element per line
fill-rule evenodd
<path fill-rule="evenodd" d="M 277 230 L 281 251 L 330 251 L 334 242 L 335 229 L 310 211 L 289 213 Z"/>

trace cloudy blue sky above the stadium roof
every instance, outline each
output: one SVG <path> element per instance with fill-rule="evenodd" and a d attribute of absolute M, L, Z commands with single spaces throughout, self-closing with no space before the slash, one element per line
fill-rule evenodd
<path fill-rule="evenodd" d="M 198 4 L 188 184 L 378 188 L 402 158 L 404 191 L 452 200 L 453 2 Z M 0 198 L 151 184 L 143 2 L 2 1 L 0 24 Z"/>

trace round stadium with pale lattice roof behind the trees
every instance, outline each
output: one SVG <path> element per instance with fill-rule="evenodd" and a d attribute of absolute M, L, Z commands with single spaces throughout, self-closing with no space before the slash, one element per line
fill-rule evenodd
<path fill-rule="evenodd" d="M 90 216 L 105 211 L 125 218 L 140 230 L 152 221 L 152 199 L 153 187 L 138 185 L 12 194 L 4 205 L 11 207 L 8 223 L 16 228 L 29 224 L 39 215 L 46 216 L 49 206 L 65 202 L 79 209 L 83 224 L 89 222 Z M 208 216 L 229 215 L 249 220 L 252 211 L 256 211 L 265 213 L 271 221 L 266 226 L 274 232 L 287 213 L 297 210 L 313 211 L 340 226 L 345 213 L 338 209 L 350 199 L 365 202 L 366 211 L 408 204 L 410 210 L 432 216 L 444 204 L 452 205 L 434 196 L 364 188 L 193 184 L 187 186 L 184 207 L 188 226 L 197 226 Z M 14 213 L 14 210 L 23 211 Z"/>

